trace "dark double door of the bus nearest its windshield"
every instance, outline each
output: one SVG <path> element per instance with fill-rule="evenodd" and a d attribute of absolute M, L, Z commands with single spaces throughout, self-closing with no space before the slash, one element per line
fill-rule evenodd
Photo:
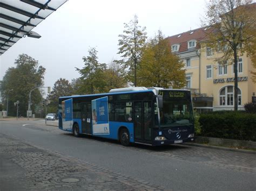
<path fill-rule="evenodd" d="M 134 139 L 137 142 L 151 142 L 152 102 L 134 102 Z"/>

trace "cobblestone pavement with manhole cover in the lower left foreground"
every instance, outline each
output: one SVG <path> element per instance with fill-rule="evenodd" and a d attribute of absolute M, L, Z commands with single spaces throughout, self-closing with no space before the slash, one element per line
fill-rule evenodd
<path fill-rule="evenodd" d="M 31 146 L 0 133 L 0 169 L 16 166 L 15 175 L 1 174 L 0 190 L 161 190 L 144 180 L 135 180 L 89 162 Z M 9 167 L 8 167 L 9 168 Z M 18 174 L 21 172 L 21 174 Z M 24 176 L 22 176 L 24 175 Z M 9 180 L 9 179 L 13 180 Z M 4 182 L 5 181 L 5 182 Z M 16 184 L 11 187 L 10 182 Z M 18 186 L 17 186 L 18 184 Z M 5 185 L 5 186 L 4 186 Z M 8 187 L 10 186 L 10 187 Z M 1 188 L 2 187 L 2 188 Z"/>

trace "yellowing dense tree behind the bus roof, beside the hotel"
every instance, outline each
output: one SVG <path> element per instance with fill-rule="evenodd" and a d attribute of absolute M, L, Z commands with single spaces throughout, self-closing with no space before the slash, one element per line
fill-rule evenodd
<path fill-rule="evenodd" d="M 183 62 L 172 54 L 161 31 L 147 43 L 138 69 L 138 84 L 145 87 L 181 88 L 185 86 Z"/>

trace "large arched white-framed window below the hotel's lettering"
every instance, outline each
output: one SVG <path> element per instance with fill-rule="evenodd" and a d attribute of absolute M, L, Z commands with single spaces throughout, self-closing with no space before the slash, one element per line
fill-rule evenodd
<path fill-rule="evenodd" d="M 220 105 L 234 105 L 234 86 L 226 86 L 220 90 Z M 238 88 L 238 105 L 241 105 L 242 95 Z"/>

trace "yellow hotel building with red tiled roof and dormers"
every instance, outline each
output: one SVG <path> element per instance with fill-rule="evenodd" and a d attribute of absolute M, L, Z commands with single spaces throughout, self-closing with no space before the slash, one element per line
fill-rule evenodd
<path fill-rule="evenodd" d="M 184 61 L 186 69 L 186 88 L 191 89 L 194 108 L 198 112 L 209 110 L 234 109 L 234 73 L 233 63 L 219 65 L 215 58 L 221 52 L 212 52 L 211 48 L 200 46 L 207 27 L 187 31 L 168 37 L 172 52 Z M 238 60 L 238 109 L 244 110 L 244 104 L 252 102 L 256 93 L 256 84 L 252 82 L 251 59 L 244 54 Z"/>

